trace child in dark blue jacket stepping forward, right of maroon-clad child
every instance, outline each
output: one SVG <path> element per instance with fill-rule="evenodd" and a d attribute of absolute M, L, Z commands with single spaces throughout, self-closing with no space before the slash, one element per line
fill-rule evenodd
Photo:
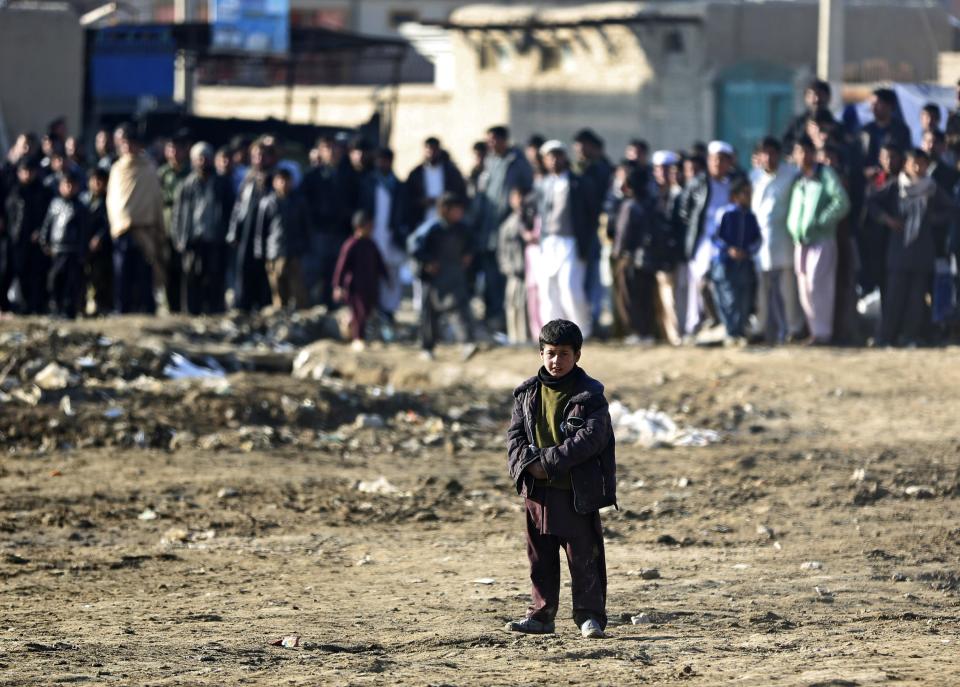
<path fill-rule="evenodd" d="M 444 193 L 438 201 L 437 212 L 437 219 L 421 226 L 407 243 L 423 282 L 420 307 L 423 357 L 433 359 L 433 349 L 440 338 L 441 318 L 455 313 L 460 320 L 466 360 L 476 352 L 472 343 L 473 317 L 467 279 L 473 260 L 472 242 L 463 223 L 466 204 L 460 196 Z"/>

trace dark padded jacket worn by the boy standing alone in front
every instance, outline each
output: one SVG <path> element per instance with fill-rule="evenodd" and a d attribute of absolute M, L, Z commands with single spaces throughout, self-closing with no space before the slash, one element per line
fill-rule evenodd
<path fill-rule="evenodd" d="M 533 428 L 540 404 L 540 383 L 531 377 L 514 389 L 513 417 L 507 430 L 507 467 L 517 493 L 526 497 L 533 478 L 524 471 L 540 461 L 551 479 L 570 473 L 573 507 L 578 513 L 592 513 L 617 505 L 616 450 L 613 428 L 603 384 L 582 368 L 576 391 L 564 410 L 564 422 L 582 418 L 584 425 L 559 446 L 535 447 Z"/>

